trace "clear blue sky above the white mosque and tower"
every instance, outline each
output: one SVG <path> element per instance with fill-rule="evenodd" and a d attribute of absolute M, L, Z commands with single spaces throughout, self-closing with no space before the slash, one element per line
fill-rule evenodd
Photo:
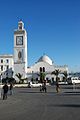
<path fill-rule="evenodd" d="M 56 65 L 80 71 L 80 0 L 0 0 L 0 54 L 13 54 L 22 19 L 28 34 L 28 66 L 46 54 Z"/>

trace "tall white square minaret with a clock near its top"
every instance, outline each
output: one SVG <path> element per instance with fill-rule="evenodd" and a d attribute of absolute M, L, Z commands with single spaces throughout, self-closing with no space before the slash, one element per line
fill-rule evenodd
<path fill-rule="evenodd" d="M 14 77 L 20 73 L 22 78 L 26 78 L 27 72 L 27 32 L 24 23 L 18 22 L 18 29 L 14 31 Z"/>

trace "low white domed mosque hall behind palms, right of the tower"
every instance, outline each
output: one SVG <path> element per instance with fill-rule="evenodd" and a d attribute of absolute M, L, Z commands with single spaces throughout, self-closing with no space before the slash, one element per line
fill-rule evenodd
<path fill-rule="evenodd" d="M 58 66 L 55 65 L 54 62 L 47 56 L 43 55 L 39 58 L 39 60 L 32 66 L 28 67 L 27 69 L 27 76 L 28 79 L 40 79 L 40 69 L 45 73 L 45 79 L 55 81 L 56 77 L 55 75 L 51 74 L 55 70 L 59 70 L 60 73 L 63 73 L 64 71 L 68 72 L 68 66 Z M 60 79 L 62 79 L 62 75 L 59 76 Z"/>

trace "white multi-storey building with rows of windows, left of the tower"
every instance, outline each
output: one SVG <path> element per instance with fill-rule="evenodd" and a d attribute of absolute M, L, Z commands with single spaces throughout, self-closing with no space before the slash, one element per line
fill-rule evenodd
<path fill-rule="evenodd" d="M 3 78 L 12 77 L 13 71 L 13 55 L 0 55 L 0 75 L 2 75 Z"/>

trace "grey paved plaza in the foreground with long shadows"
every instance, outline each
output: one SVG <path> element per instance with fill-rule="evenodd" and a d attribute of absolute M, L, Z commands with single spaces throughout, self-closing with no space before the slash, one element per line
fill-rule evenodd
<path fill-rule="evenodd" d="M 80 85 L 62 85 L 60 93 L 48 86 L 14 88 L 7 100 L 0 99 L 0 120 L 80 120 Z"/>

